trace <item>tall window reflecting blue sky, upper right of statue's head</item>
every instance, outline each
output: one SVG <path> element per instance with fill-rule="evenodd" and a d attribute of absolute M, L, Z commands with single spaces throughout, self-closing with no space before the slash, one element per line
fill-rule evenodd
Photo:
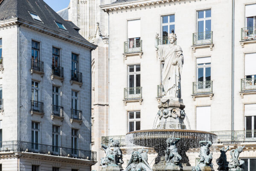
<path fill-rule="evenodd" d="M 211 9 L 197 12 L 198 40 L 210 39 L 211 34 Z"/>

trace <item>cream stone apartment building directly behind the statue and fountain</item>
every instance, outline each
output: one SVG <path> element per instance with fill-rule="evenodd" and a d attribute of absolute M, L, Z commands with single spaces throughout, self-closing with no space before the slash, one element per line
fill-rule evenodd
<path fill-rule="evenodd" d="M 126 133 L 152 128 L 164 94 L 164 64 L 154 47 L 155 35 L 160 35 L 159 44 L 168 44 L 167 36 L 174 30 L 183 50 L 181 98 L 191 129 L 216 133 L 218 148 L 245 145 L 240 158 L 247 171 L 253 171 L 256 1 L 116 0 L 101 8 L 109 14 L 111 28 L 109 132 L 102 143 L 119 139 L 126 149 Z M 187 155 L 196 165 L 198 150 Z M 217 149 L 214 159 L 219 155 Z M 229 152 L 227 156 L 229 160 Z M 154 151 L 149 153 L 151 166 L 154 157 Z"/>

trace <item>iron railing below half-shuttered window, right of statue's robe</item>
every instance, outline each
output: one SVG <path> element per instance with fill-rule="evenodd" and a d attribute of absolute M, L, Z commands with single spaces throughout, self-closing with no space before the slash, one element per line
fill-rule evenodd
<path fill-rule="evenodd" d="M 211 93 L 212 93 L 212 81 L 193 82 L 192 95 L 211 94 Z"/>

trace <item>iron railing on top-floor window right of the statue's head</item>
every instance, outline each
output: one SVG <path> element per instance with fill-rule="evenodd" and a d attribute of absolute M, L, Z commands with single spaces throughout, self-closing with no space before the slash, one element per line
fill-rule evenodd
<path fill-rule="evenodd" d="M 212 44 L 212 31 L 193 33 L 192 46 Z"/>

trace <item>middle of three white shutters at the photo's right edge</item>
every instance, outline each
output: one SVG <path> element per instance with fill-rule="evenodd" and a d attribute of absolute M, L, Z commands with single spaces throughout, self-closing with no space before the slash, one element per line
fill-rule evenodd
<path fill-rule="evenodd" d="M 244 57 L 244 75 L 256 75 L 256 53 L 247 53 Z"/>

